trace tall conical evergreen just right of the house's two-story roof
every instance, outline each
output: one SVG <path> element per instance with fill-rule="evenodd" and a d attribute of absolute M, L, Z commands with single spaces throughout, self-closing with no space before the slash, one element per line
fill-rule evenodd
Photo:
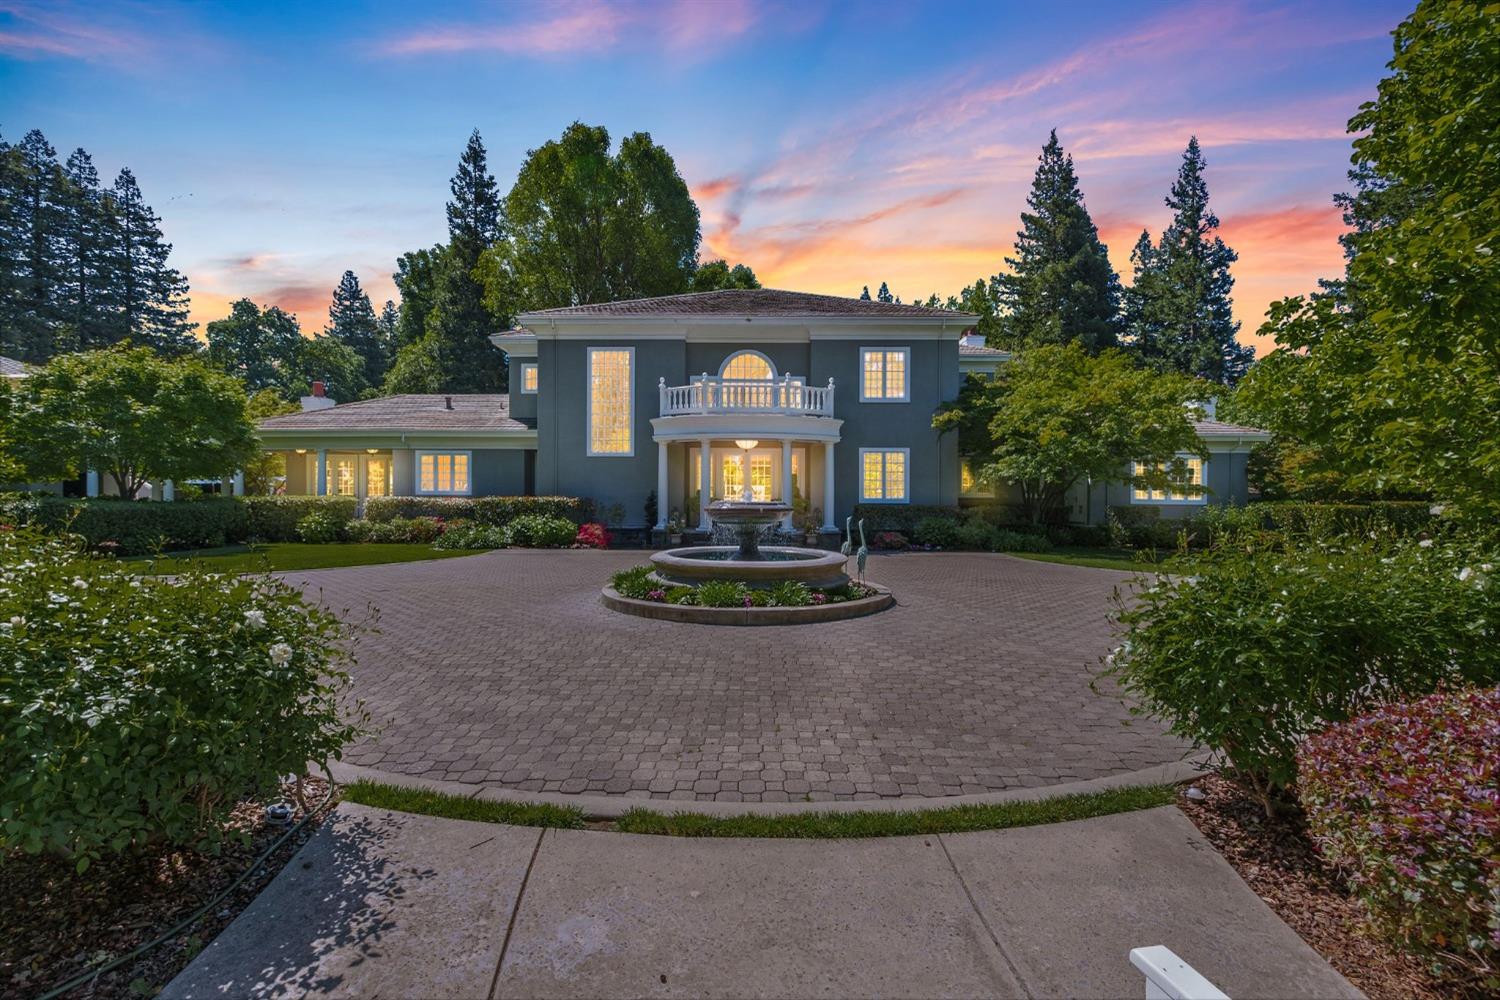
<path fill-rule="evenodd" d="M 996 274 L 1005 310 L 1004 340 L 1012 346 L 1077 340 L 1096 354 L 1114 346 L 1119 274 L 1083 204 L 1072 157 L 1053 130 L 1038 157 L 1030 211 L 1022 213 L 1010 274 Z"/>

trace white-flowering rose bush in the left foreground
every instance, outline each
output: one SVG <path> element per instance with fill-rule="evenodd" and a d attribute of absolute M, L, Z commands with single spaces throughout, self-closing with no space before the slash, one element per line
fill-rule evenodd
<path fill-rule="evenodd" d="M 213 844 L 238 799 L 358 735 L 351 639 L 270 576 L 142 577 L 76 537 L 0 532 L 0 852 L 82 870 Z"/>

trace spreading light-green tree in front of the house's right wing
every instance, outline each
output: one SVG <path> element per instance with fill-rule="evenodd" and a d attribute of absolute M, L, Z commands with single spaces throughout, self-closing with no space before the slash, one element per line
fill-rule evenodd
<path fill-rule="evenodd" d="M 1082 343 L 1028 348 L 993 381 L 968 379 L 933 418 L 984 483 L 1014 483 L 1041 523 L 1088 478 L 1182 489 L 1182 453 L 1204 454 L 1192 429 L 1203 384 L 1136 366 L 1122 351 Z M 1148 469 L 1131 472 L 1131 462 Z"/>

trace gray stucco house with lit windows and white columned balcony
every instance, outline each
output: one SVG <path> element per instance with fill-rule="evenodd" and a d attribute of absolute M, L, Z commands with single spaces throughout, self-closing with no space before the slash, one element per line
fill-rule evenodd
<path fill-rule="evenodd" d="M 832 295 L 753 289 L 522 313 L 490 337 L 508 396 L 393 396 L 260 424 L 288 457 L 291 493 L 573 495 L 622 511 L 627 528 L 672 513 L 708 528 L 702 496 L 801 496 L 836 529 L 855 504 L 1004 499 L 975 487 L 933 411 L 966 375 L 1010 357 L 966 336 L 976 318 Z M 1108 505 L 1164 514 L 1246 499 L 1245 457 L 1263 432 L 1204 421 L 1209 495 L 1094 484 L 1071 517 Z M 657 495 L 648 525 L 646 496 Z"/>

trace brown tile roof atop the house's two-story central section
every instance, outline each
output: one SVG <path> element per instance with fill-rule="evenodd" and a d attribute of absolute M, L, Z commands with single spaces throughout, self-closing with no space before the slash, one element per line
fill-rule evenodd
<path fill-rule="evenodd" d="M 870 316 L 880 319 L 962 319 L 975 321 L 964 312 L 928 309 L 870 298 L 813 295 L 777 288 L 726 288 L 686 295 L 628 298 L 624 301 L 562 306 L 522 313 L 522 319 L 573 319 L 586 316 Z"/>

